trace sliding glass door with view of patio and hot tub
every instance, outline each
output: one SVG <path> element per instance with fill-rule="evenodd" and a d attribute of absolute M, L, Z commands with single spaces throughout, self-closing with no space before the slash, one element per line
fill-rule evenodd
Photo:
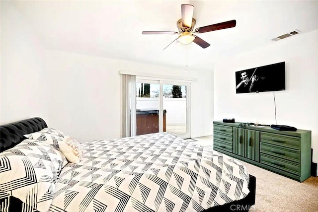
<path fill-rule="evenodd" d="M 190 138 L 190 83 L 138 78 L 136 135 L 171 132 Z"/>

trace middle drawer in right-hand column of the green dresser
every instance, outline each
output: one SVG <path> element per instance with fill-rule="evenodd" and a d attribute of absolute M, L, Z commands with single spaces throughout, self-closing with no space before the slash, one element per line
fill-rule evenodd
<path fill-rule="evenodd" d="M 279 157 L 282 159 L 292 160 L 296 163 L 300 161 L 300 151 L 285 147 L 278 147 L 264 142 L 260 142 L 260 152 Z"/>

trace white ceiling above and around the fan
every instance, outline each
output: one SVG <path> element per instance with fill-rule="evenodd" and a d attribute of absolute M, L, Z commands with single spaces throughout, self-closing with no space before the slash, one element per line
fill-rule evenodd
<path fill-rule="evenodd" d="M 187 45 L 189 68 L 209 69 L 220 57 L 273 44 L 272 38 L 295 29 L 318 29 L 317 0 L 15 1 L 49 49 L 175 67 L 185 66 L 185 46 L 171 44 L 162 50 L 177 35 L 141 32 L 177 31 L 182 3 L 194 5 L 195 28 L 237 20 L 235 28 L 199 34 L 210 47 Z"/>

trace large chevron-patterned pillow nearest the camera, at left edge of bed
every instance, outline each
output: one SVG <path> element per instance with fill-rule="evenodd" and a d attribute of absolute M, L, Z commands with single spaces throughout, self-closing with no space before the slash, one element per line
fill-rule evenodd
<path fill-rule="evenodd" d="M 1 152 L 0 211 L 18 207 L 10 206 L 17 198 L 22 203 L 18 211 L 47 212 L 64 158 L 56 148 L 35 140 L 24 140 Z"/>

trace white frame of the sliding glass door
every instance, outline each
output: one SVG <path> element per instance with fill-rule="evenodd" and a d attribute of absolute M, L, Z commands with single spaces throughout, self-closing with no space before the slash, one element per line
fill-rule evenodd
<path fill-rule="evenodd" d="M 179 134 L 182 139 L 191 138 L 191 83 L 189 81 L 177 79 L 162 79 L 147 76 L 136 76 L 136 83 L 158 84 L 159 82 L 159 132 L 163 132 L 163 85 L 181 85 L 186 86 L 186 133 Z M 137 128 L 136 128 L 137 129 Z"/>

